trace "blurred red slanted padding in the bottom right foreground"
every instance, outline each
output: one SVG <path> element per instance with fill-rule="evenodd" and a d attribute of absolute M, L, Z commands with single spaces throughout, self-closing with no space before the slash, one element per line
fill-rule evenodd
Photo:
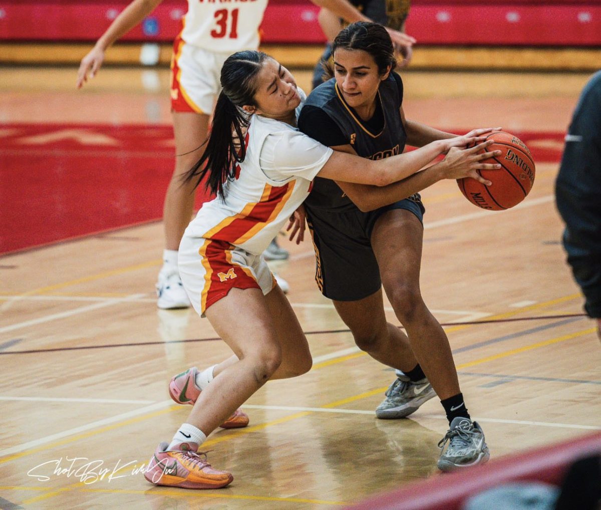
<path fill-rule="evenodd" d="M 601 454 L 601 432 L 517 455 L 507 455 L 460 473 L 433 476 L 347 510 L 459 510 L 468 496 L 513 481 L 560 485 L 578 458 Z"/>

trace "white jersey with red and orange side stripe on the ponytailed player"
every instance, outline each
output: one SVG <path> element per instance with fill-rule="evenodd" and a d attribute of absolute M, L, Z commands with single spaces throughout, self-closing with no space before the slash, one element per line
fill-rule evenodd
<path fill-rule="evenodd" d="M 332 149 L 258 115 L 252 115 L 245 144 L 246 157 L 236 165 L 235 179 L 225 184 L 225 200 L 205 203 L 185 236 L 227 241 L 258 255 L 307 198 Z"/>

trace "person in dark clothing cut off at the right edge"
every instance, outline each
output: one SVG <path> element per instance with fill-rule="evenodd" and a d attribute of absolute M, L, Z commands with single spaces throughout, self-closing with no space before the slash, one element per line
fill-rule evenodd
<path fill-rule="evenodd" d="M 555 183 L 563 245 L 601 340 L 601 71 L 582 90 Z"/>

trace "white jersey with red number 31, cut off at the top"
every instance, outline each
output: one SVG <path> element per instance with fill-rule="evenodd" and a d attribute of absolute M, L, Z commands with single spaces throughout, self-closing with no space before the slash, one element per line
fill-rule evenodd
<path fill-rule="evenodd" d="M 182 39 L 218 53 L 257 49 L 267 0 L 188 0 Z"/>

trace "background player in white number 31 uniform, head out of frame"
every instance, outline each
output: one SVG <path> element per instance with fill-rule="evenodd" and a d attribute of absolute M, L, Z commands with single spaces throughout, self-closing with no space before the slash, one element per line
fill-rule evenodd
<path fill-rule="evenodd" d="M 368 20 L 347 0 L 312 0 L 337 16 L 353 22 Z M 111 23 L 79 67 L 77 86 L 93 78 L 105 51 L 118 38 L 138 25 L 162 0 L 134 0 Z M 219 94 L 219 71 L 228 55 L 257 49 L 259 25 L 267 0 L 188 0 L 182 32 L 174 42 L 171 61 L 171 111 L 175 136 L 175 170 L 163 204 L 165 250 L 157 289 L 157 306 L 162 309 L 190 306 L 177 271 L 177 247 L 194 208 L 194 194 L 179 177 L 200 157 L 199 141 L 206 138 L 209 115 Z M 411 41 L 390 31 L 401 45 Z"/>

